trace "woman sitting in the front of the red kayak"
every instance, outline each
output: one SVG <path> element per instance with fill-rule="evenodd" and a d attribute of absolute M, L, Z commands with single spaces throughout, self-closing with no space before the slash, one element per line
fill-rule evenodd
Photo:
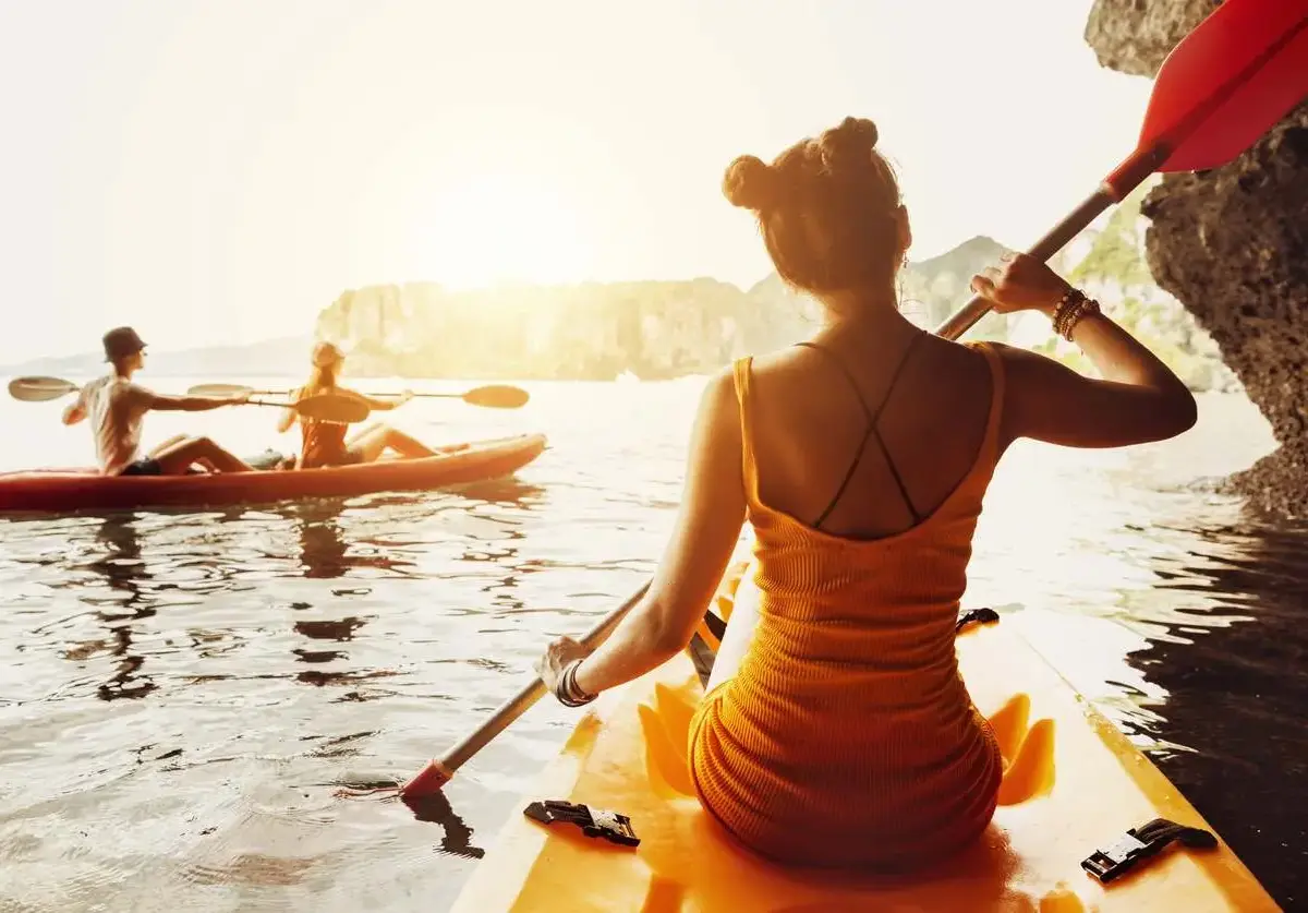
<path fill-rule="evenodd" d="M 293 402 L 319 395 L 351 396 L 364 400 L 373 411 L 385 412 L 403 405 L 413 398 L 413 394 L 405 391 L 398 399 L 378 399 L 340 386 L 337 379 L 340 369 L 345 364 L 345 354 L 331 343 L 314 345 L 310 361 L 313 362 L 313 373 L 305 386 L 292 392 Z M 300 422 L 297 470 L 371 463 L 386 450 L 394 450 L 400 456 L 411 459 L 436 455 L 436 451 L 421 441 L 381 422 L 368 425 L 347 439 L 349 425 L 339 421 L 305 419 L 294 409 L 283 409 L 277 420 L 277 430 L 288 432 L 296 421 Z"/>

